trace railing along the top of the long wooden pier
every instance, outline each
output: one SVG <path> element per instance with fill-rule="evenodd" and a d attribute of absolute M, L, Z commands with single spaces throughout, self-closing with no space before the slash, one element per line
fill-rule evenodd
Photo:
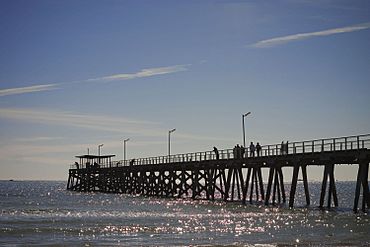
<path fill-rule="evenodd" d="M 270 144 L 261 146 L 259 153 L 260 157 L 278 156 L 278 155 L 289 155 L 289 154 L 305 154 L 305 153 L 318 153 L 318 152 L 335 152 L 335 151 L 346 151 L 346 150 L 357 150 L 370 148 L 370 134 L 356 135 L 356 136 L 345 136 L 336 138 L 326 139 L 315 139 L 308 141 L 299 142 L 288 142 L 279 144 Z M 250 148 L 244 149 L 243 157 L 240 157 L 241 151 L 234 149 L 219 150 L 219 159 L 228 160 L 235 158 L 250 158 L 257 157 L 257 152 L 254 155 L 250 152 Z M 138 158 L 134 160 L 120 160 L 113 161 L 110 164 L 101 165 L 100 167 L 121 167 L 129 165 L 157 165 L 166 163 L 184 163 L 192 161 L 207 161 L 216 160 L 217 156 L 214 151 L 174 154 L 166 156 L 156 156 L 148 158 Z M 71 168 L 76 168 L 75 165 L 71 165 Z M 81 168 L 84 165 L 81 164 Z"/>

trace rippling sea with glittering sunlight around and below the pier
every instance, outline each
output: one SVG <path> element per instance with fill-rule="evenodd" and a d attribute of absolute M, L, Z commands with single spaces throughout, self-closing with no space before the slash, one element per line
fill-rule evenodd
<path fill-rule="evenodd" d="M 332 210 L 317 208 L 320 186 L 310 183 L 312 206 L 306 208 L 299 184 L 298 206 L 289 209 L 0 181 L 0 245 L 370 246 L 370 216 L 352 212 L 355 183 L 337 183 L 339 207 Z"/>

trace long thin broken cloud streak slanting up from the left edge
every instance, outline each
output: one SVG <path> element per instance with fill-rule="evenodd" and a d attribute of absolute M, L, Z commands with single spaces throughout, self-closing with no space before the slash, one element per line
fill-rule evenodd
<path fill-rule="evenodd" d="M 181 71 L 186 71 L 188 70 L 189 66 L 190 64 L 180 64 L 180 65 L 173 65 L 173 66 L 167 66 L 167 67 L 142 69 L 136 73 L 113 74 L 113 75 L 97 77 L 97 78 L 89 78 L 89 79 L 80 80 L 80 81 L 60 82 L 60 83 L 53 83 L 53 84 L 49 83 L 49 84 L 33 85 L 33 86 L 28 86 L 28 87 L 0 89 L 0 97 L 7 96 L 7 95 L 55 90 L 57 88 L 63 87 L 65 84 L 122 81 L 122 80 L 132 80 L 136 78 L 172 74 L 172 73 L 177 73 Z"/>

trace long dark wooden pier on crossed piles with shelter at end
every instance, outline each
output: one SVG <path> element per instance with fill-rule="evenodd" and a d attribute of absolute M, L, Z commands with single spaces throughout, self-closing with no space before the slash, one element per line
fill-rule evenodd
<path fill-rule="evenodd" d="M 190 197 L 193 199 L 263 202 L 266 205 L 286 203 L 294 206 L 299 173 L 310 205 L 307 166 L 323 166 L 324 174 L 319 207 L 338 206 L 334 169 L 337 165 L 354 164 L 357 183 L 354 188 L 355 212 L 370 208 L 369 163 L 370 134 L 289 143 L 282 152 L 281 145 L 262 146 L 260 154 L 235 155 L 235 150 L 176 154 L 112 161 L 114 155 L 76 156 L 71 165 L 67 189 L 128 193 L 157 197 Z M 285 191 L 282 168 L 292 167 L 290 191 Z M 269 169 L 264 185 L 261 169 Z M 362 192 L 362 196 L 361 196 Z"/>

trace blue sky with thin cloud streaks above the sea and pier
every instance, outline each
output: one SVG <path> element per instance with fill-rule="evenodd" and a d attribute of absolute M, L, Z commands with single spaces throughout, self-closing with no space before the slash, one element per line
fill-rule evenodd
<path fill-rule="evenodd" d="M 0 179 L 370 133 L 370 2 L 0 1 Z M 309 170 L 320 180 L 322 170 Z M 355 180 L 354 166 L 336 168 Z"/>

